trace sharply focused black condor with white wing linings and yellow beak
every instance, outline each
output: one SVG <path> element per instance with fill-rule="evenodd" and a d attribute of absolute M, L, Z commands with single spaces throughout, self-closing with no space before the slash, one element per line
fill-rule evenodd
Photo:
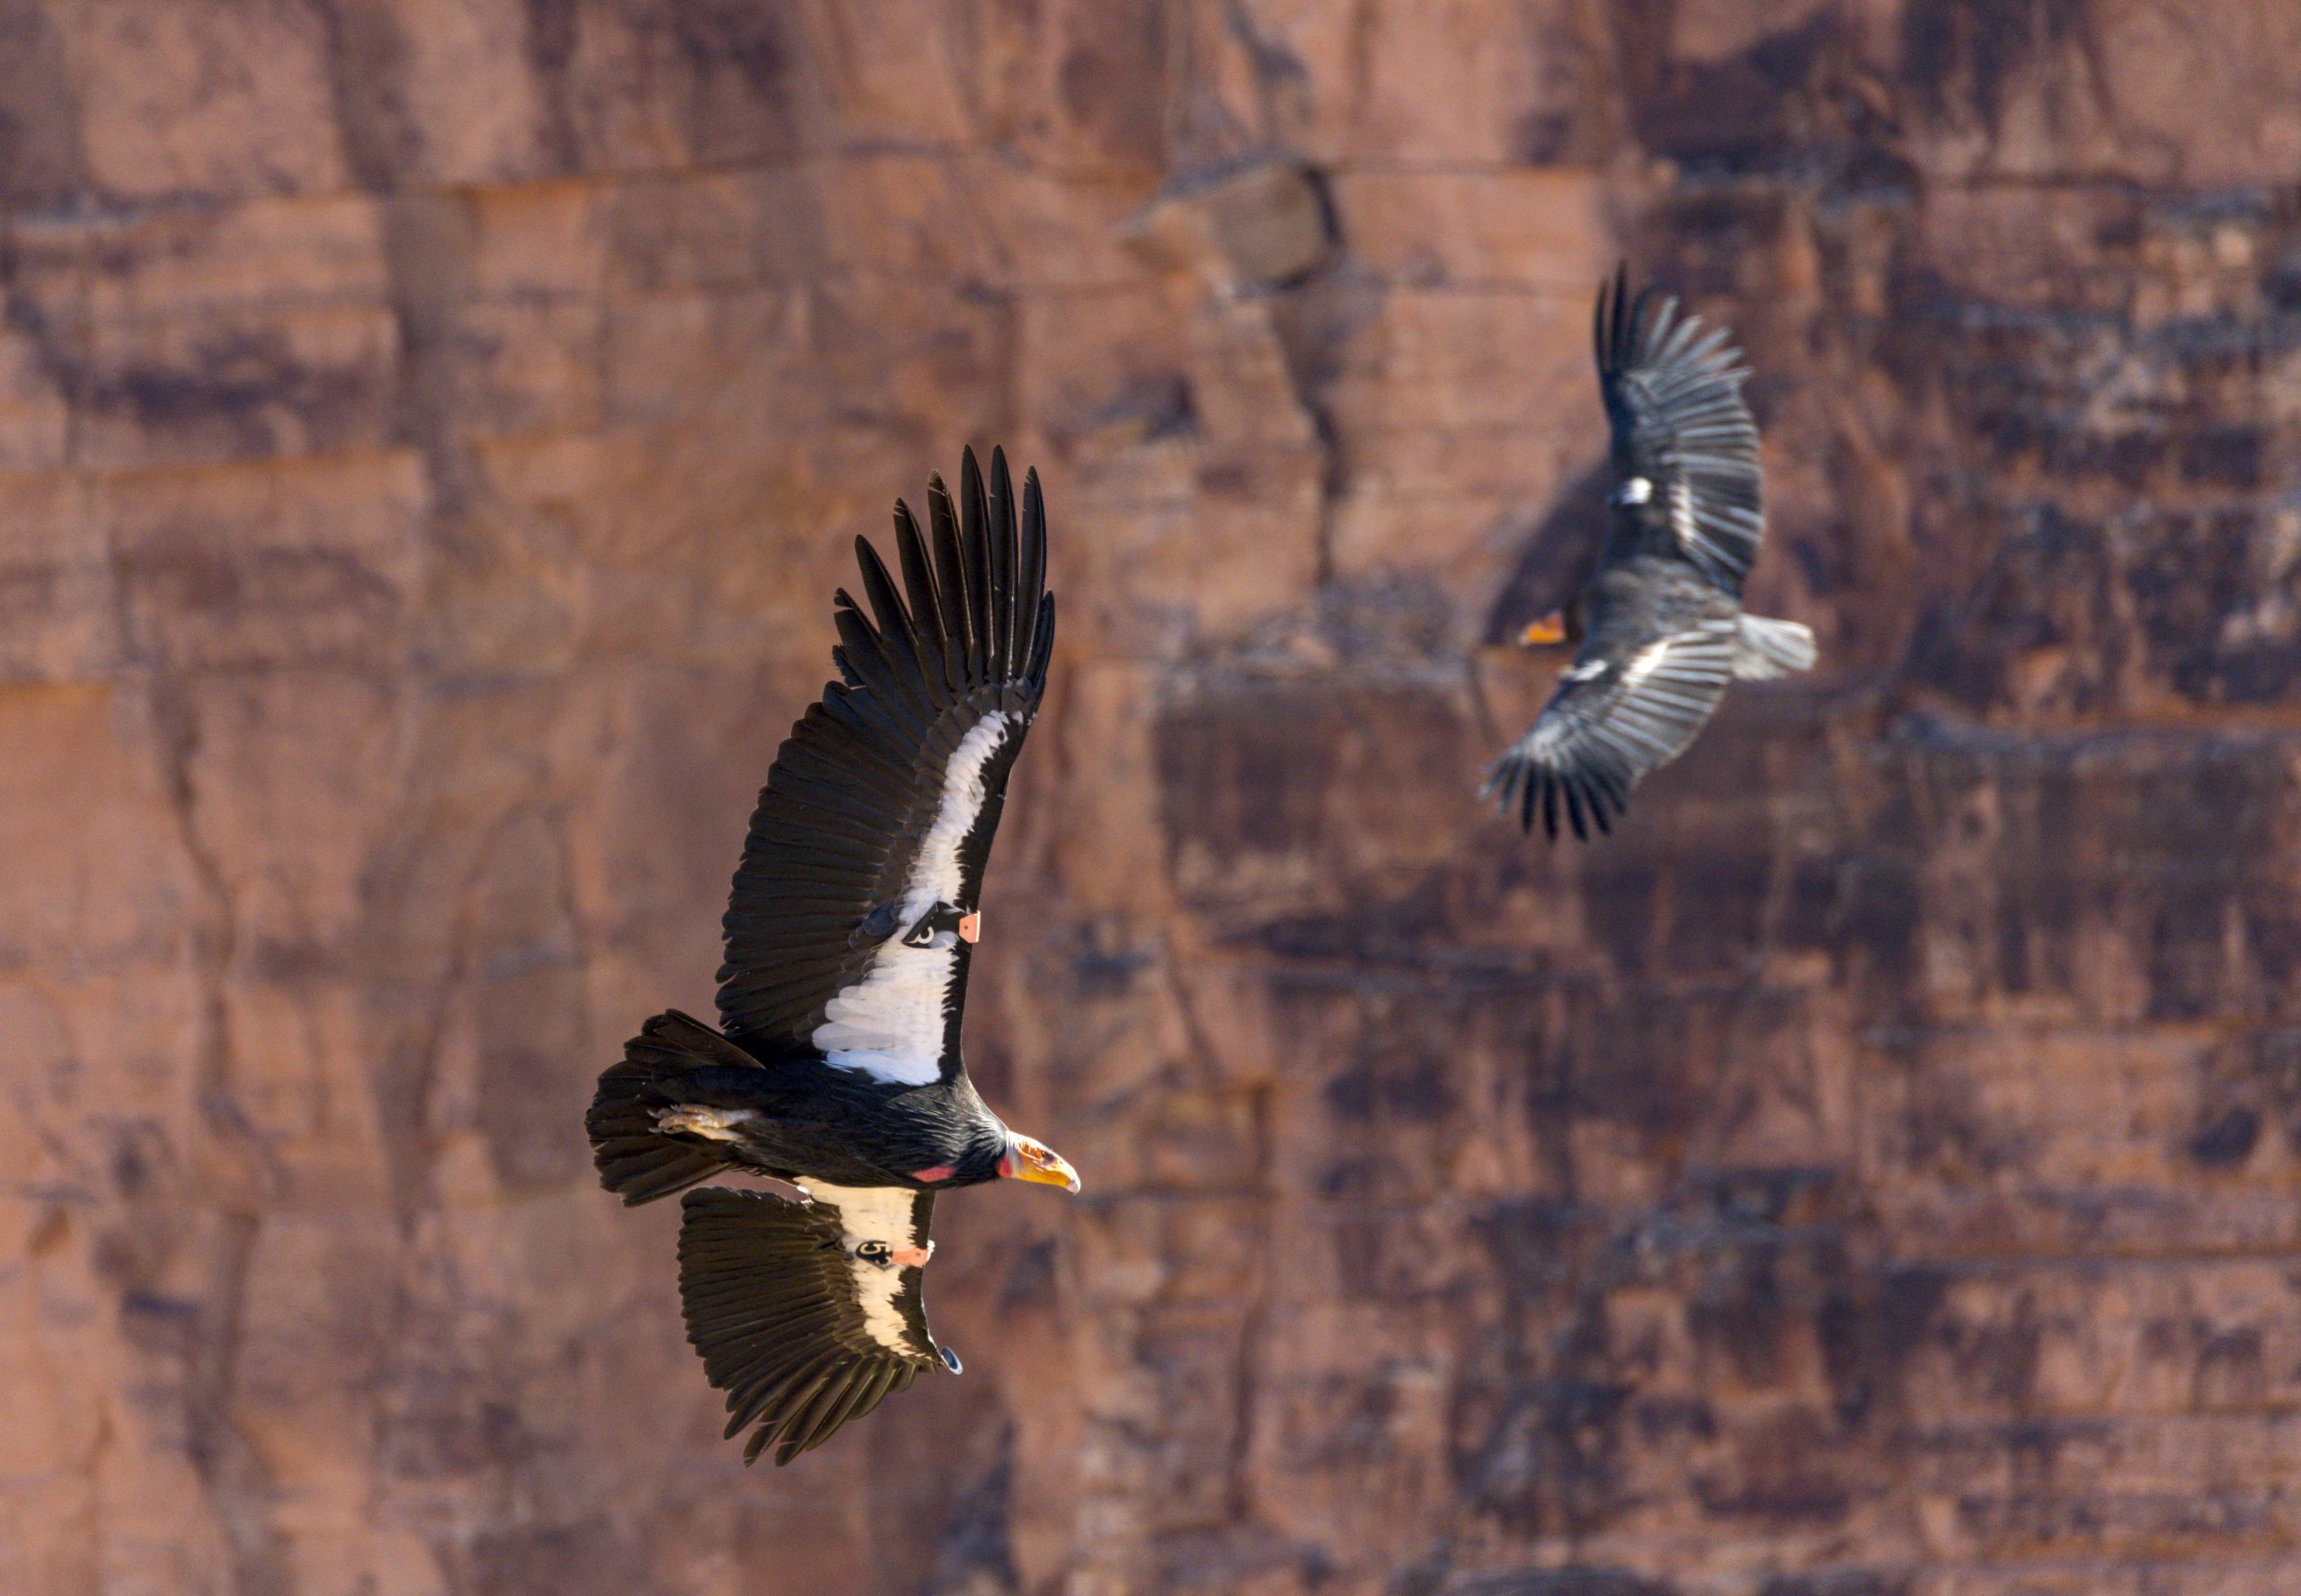
<path fill-rule="evenodd" d="M 720 1028 L 658 1014 L 598 1081 L 587 1129 L 626 1203 L 720 1171 L 803 1196 L 688 1191 L 679 1295 L 743 1463 L 819 1447 L 923 1368 L 934 1196 L 1012 1177 L 1079 1189 L 1010 1131 L 960 1056 L 983 865 L 1054 649 L 1038 476 L 1017 501 L 966 453 L 895 504 L 895 575 L 856 538 L 833 603 L 840 681 L 775 754 L 727 904 Z"/>

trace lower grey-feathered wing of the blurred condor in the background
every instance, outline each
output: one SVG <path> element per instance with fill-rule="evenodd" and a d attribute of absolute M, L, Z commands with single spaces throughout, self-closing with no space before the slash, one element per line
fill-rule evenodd
<path fill-rule="evenodd" d="M 1735 623 L 1703 621 L 1634 651 L 1592 644 L 1486 777 L 1505 814 L 1516 809 L 1519 826 L 1532 830 L 1539 809 L 1553 839 L 1560 803 L 1576 837 L 1588 837 L 1590 823 L 1613 830 L 1611 814 L 1629 805 L 1629 789 L 1687 750 L 1726 697 Z"/>

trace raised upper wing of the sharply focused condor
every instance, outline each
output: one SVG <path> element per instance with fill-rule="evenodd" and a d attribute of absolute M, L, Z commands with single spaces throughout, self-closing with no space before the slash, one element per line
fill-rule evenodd
<path fill-rule="evenodd" d="M 966 451 L 957 504 L 930 478 L 927 534 L 895 504 L 900 589 L 863 538 L 856 559 L 865 603 L 842 589 L 833 607 L 840 681 L 782 743 L 750 816 L 718 1007 L 755 1053 L 817 1046 L 923 1085 L 957 1069 L 960 918 L 1047 685 L 1038 474 L 1017 506 L 1006 455 L 992 451 L 985 488 Z"/>

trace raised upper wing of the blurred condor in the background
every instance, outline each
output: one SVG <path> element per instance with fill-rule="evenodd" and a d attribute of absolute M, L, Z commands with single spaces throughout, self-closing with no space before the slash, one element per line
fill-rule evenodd
<path fill-rule="evenodd" d="M 1629 299 L 1627 267 L 1597 294 L 1597 379 L 1613 428 L 1615 540 L 1673 547 L 1740 596 L 1765 506 L 1749 368 L 1719 327 L 1703 331 L 1652 287 Z M 1654 536 L 1666 534 L 1666 536 Z"/>

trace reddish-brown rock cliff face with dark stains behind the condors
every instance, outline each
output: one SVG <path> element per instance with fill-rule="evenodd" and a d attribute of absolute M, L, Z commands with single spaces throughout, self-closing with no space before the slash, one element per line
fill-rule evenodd
<path fill-rule="evenodd" d="M 0 1589 L 2301 1589 L 2289 0 L 0 7 Z M 1470 803 L 1592 285 L 1737 690 Z M 1045 471 L 962 1380 L 746 1474 L 594 1072 L 847 538 Z"/>

